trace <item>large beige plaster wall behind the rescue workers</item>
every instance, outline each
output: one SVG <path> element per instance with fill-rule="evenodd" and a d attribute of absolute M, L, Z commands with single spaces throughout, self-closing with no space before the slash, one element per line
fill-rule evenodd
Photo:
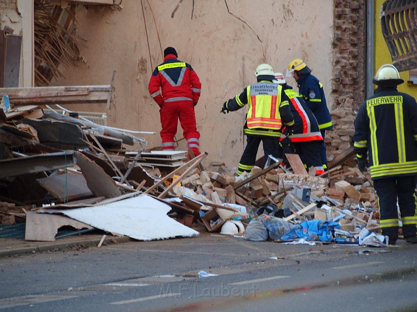
<path fill-rule="evenodd" d="M 106 111 L 108 123 L 128 129 L 160 131 L 158 107 L 147 85 L 153 67 L 162 62 L 162 49 L 173 46 L 179 59 L 190 63 L 202 81 L 196 106 L 202 150 L 209 160 L 236 166 L 244 149 L 242 127 L 246 108 L 220 114 L 222 103 L 254 83 L 254 70 L 270 63 L 284 71 L 295 57 L 303 57 L 323 82 L 330 101 L 332 0 L 184 0 L 175 17 L 178 0 L 143 0 L 151 61 L 139 0 L 124 0 L 122 10 L 78 6 L 80 53 L 85 63 L 65 70 L 66 80 L 56 85 L 108 84 L 113 70 L 116 101 L 104 105 L 77 106 L 78 110 Z M 258 37 L 260 40 L 258 39 Z M 289 83 L 295 87 L 292 78 Z M 330 103 L 329 103 L 330 104 Z M 160 144 L 159 135 L 143 135 L 148 146 Z M 182 137 L 179 130 L 177 138 Z M 180 144 L 185 149 L 185 144 Z M 262 153 L 260 153 L 262 154 Z"/>

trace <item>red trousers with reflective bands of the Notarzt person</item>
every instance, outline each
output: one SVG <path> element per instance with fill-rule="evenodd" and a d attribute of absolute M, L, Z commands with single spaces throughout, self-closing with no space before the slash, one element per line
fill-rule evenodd
<path fill-rule="evenodd" d="M 163 150 L 174 150 L 175 134 L 177 133 L 178 120 L 180 120 L 184 138 L 187 140 L 188 148 L 194 155 L 200 155 L 200 133 L 197 131 L 194 104 L 192 101 L 165 102 L 159 109 L 162 130 Z"/>

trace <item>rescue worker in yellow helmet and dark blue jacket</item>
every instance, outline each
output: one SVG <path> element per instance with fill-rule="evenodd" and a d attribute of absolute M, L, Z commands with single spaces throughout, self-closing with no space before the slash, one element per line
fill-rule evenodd
<path fill-rule="evenodd" d="M 292 77 L 296 81 L 298 93 L 304 98 L 318 122 L 318 127 L 323 137 L 320 150 L 321 163 L 323 168 L 327 170 L 324 138 L 326 130 L 332 129 L 333 125 L 329 109 L 327 108 L 326 97 L 324 96 L 323 84 L 311 74 L 311 69 L 307 67 L 302 59 L 293 59 L 287 67 L 287 73 L 292 73 Z"/>

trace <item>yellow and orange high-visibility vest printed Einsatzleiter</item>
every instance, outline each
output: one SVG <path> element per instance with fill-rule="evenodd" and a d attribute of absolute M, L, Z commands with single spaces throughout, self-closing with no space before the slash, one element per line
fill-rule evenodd
<path fill-rule="evenodd" d="M 282 86 L 272 82 L 258 82 L 247 88 L 249 129 L 281 129 L 281 90 Z"/>

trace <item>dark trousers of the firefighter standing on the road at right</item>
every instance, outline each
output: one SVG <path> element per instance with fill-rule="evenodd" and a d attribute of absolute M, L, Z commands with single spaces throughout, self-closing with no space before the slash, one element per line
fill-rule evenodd
<path fill-rule="evenodd" d="M 373 186 L 378 195 L 382 234 L 398 237 L 398 206 L 400 207 L 404 238 L 416 237 L 417 176 L 376 179 Z"/>

